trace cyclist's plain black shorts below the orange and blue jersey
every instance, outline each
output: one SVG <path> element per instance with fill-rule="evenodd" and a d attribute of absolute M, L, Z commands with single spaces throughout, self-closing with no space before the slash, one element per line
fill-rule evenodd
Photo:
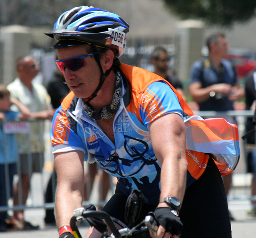
<path fill-rule="evenodd" d="M 116 187 L 114 196 L 102 210 L 125 226 L 124 208 L 127 196 Z M 144 204 L 140 221 L 156 206 Z M 121 221 L 121 222 L 118 222 Z M 228 202 L 222 178 L 210 158 L 202 176 L 186 189 L 180 210 L 183 223 L 181 238 L 231 238 Z"/>

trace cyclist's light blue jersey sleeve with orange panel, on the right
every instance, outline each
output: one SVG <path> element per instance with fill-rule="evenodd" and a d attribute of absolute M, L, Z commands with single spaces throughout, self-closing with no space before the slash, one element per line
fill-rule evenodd
<path fill-rule="evenodd" d="M 140 117 L 145 126 L 167 113 L 183 115 L 178 98 L 173 90 L 163 81 L 150 84 L 140 100 Z M 182 116 L 183 118 L 183 116 Z"/>

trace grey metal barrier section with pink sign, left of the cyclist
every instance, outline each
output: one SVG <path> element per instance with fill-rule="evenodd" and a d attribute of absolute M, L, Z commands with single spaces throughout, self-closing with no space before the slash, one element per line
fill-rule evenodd
<path fill-rule="evenodd" d="M 19 144 L 23 144 L 24 147 L 26 147 L 26 153 L 28 153 L 28 174 L 31 176 L 31 183 L 30 183 L 30 193 L 28 196 L 28 200 L 26 202 L 26 205 L 22 205 L 22 188 L 21 184 L 18 183 L 18 204 L 14 206 L 10 194 L 10 186 L 9 186 L 9 178 L 8 178 L 8 158 L 7 158 L 7 152 L 4 151 L 5 154 L 5 171 L 6 171 L 6 194 L 9 198 L 8 200 L 8 206 L 0 206 L 0 211 L 2 210 L 23 210 L 27 208 L 47 208 L 48 204 L 44 203 L 44 194 L 45 194 L 45 184 L 48 182 L 48 176 L 50 174 L 50 170 L 48 172 L 45 172 L 45 169 L 41 173 L 32 173 L 32 156 L 31 156 L 31 140 L 33 138 L 30 138 L 30 130 L 31 128 L 35 128 L 35 130 L 38 133 L 38 152 L 42 152 L 39 157 L 42 159 L 42 156 L 44 156 L 44 165 L 49 166 L 50 164 L 53 164 L 53 157 L 49 153 L 49 126 L 50 126 L 49 120 L 22 120 L 22 121 L 1 121 L 0 127 L 2 129 L 4 143 L 8 143 L 8 140 L 6 138 L 7 134 L 14 134 L 16 137 L 17 142 L 17 163 L 16 163 L 16 174 L 14 175 L 14 184 L 17 183 L 18 178 L 21 175 L 21 167 L 20 167 L 20 160 L 19 160 L 19 152 L 18 152 L 18 137 L 22 137 Z M 48 138 L 47 138 L 48 137 Z M 20 138 L 21 139 L 21 138 Z M 41 146 L 42 145 L 42 146 Z M 6 148 L 6 146 L 5 146 Z M 5 149 L 4 148 L 4 149 Z M 5 149 L 6 150 L 6 149 Z M 43 166 L 43 165 L 42 165 Z M 53 205 L 53 204 L 52 204 Z"/>

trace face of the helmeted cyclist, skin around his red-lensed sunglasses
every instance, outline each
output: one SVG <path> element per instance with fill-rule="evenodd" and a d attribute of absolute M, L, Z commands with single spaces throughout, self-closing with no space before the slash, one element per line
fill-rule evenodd
<path fill-rule="evenodd" d="M 73 46 L 57 50 L 58 60 L 88 54 L 87 45 Z M 88 98 L 96 90 L 100 81 L 100 68 L 92 56 L 84 58 L 85 66 L 79 70 L 72 71 L 65 68 L 64 77 L 70 90 L 77 98 Z"/>

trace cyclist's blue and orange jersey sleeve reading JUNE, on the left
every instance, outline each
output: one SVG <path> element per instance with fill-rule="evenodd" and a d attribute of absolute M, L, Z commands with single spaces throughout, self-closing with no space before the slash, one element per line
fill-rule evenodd
<path fill-rule="evenodd" d="M 72 130 L 62 107 L 55 112 L 52 120 L 51 141 L 53 154 L 80 150 L 85 153 L 81 138 Z"/>

